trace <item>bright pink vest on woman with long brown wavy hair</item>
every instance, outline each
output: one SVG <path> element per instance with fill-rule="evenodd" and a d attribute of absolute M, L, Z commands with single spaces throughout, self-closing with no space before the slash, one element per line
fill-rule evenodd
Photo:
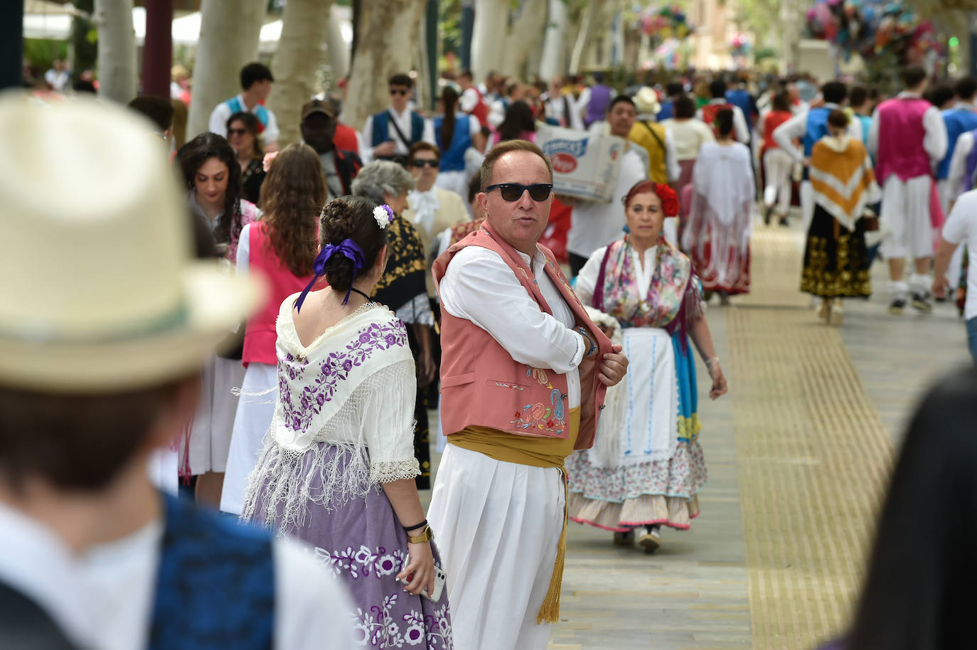
<path fill-rule="evenodd" d="M 252 362 L 275 366 L 278 363 L 275 354 L 278 309 L 285 298 L 304 289 L 312 280 L 312 275 L 296 276 L 281 263 L 268 237 L 265 222 L 256 222 L 248 233 L 248 273 L 262 276 L 268 283 L 269 291 L 265 305 L 247 321 L 241 362 L 244 366 Z"/>

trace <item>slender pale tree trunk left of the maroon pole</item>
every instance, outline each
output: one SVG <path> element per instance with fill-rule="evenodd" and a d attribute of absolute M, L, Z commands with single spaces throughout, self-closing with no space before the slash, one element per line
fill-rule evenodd
<path fill-rule="evenodd" d="M 136 31 L 132 0 L 98 0 L 99 95 L 128 104 L 136 97 Z"/>

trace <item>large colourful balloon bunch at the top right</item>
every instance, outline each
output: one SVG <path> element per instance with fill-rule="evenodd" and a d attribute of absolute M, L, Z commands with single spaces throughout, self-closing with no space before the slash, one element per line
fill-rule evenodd
<path fill-rule="evenodd" d="M 933 24 L 902 2 L 816 0 L 807 12 L 807 36 L 833 43 L 847 61 L 853 52 L 866 61 L 921 63 L 930 52 L 943 56 Z"/>

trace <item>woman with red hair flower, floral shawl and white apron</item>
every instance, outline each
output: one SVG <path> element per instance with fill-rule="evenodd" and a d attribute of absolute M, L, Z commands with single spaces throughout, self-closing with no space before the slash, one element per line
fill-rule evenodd
<path fill-rule="evenodd" d="M 705 485 L 699 445 L 696 346 L 712 378 L 709 397 L 726 392 L 726 377 L 705 322 L 699 279 L 689 258 L 662 236 L 678 214 L 667 185 L 642 181 L 624 196 L 626 235 L 597 249 L 576 277 L 576 295 L 630 360 L 608 389 L 593 449 L 567 459 L 570 519 L 614 531 L 646 551 L 659 529 L 689 528 Z"/>

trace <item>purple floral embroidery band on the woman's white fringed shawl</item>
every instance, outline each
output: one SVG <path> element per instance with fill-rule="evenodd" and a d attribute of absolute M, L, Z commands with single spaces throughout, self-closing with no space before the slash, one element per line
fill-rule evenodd
<path fill-rule="evenodd" d="M 361 366 L 373 353 L 407 344 L 407 330 L 401 321 L 367 325 L 343 352 L 329 354 L 314 368 L 319 376 L 314 385 L 307 385 L 293 395 L 289 381 L 295 381 L 309 368 L 308 359 L 291 354 L 278 362 L 278 395 L 284 412 L 284 425 L 293 431 L 305 431 L 314 415 L 332 400 L 340 381 L 349 377 L 353 368 Z"/>

